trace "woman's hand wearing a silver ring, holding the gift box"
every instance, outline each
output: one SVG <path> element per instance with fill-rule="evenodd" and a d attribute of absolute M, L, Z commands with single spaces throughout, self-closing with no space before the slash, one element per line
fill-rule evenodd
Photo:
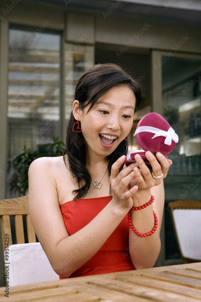
<path fill-rule="evenodd" d="M 146 166 L 141 156 L 139 154 L 136 154 L 135 160 L 140 169 L 138 169 L 137 167 L 133 169 L 135 178 L 130 183 L 131 188 L 137 185 L 139 191 L 146 190 L 148 188 L 152 188 L 156 185 L 159 185 L 162 182 L 162 179 L 167 176 L 168 169 L 172 164 L 172 161 L 170 159 L 166 159 L 166 157 L 160 152 L 156 153 L 156 157 L 158 160 L 150 151 L 146 151 L 145 155 L 151 164 L 152 171 Z M 154 178 L 152 176 L 152 172 L 155 177 L 162 175 L 162 173 L 163 176 L 162 178 Z M 128 189 L 130 187 L 128 187 Z"/>

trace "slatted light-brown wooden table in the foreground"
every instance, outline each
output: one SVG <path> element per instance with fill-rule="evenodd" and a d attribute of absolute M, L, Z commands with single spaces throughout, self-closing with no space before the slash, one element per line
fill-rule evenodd
<path fill-rule="evenodd" d="M 201 301 L 201 262 L 0 288 L 9 302 Z"/>

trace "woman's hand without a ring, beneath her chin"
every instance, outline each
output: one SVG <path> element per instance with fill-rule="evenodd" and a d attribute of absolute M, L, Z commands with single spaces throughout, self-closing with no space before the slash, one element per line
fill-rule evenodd
<path fill-rule="evenodd" d="M 128 189 L 128 185 L 135 178 L 133 171 L 135 164 L 131 164 L 119 172 L 121 165 L 125 162 L 126 156 L 121 156 L 111 167 L 110 183 L 113 192 L 112 201 L 121 209 L 130 210 L 133 206 L 132 196 L 137 192 L 138 187 L 133 185 Z"/>

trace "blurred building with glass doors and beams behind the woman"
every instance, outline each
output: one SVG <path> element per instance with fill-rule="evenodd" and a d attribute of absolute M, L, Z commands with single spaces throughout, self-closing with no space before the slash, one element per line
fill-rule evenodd
<path fill-rule="evenodd" d="M 24 148 L 39 153 L 53 136 L 65 142 L 77 79 L 96 64 L 121 64 L 144 85 L 131 148 L 149 112 L 179 135 L 164 181 L 164 265 L 177 249 L 167 202 L 201 199 L 200 16 L 199 0 L 2 0 L 0 199 L 19 196 L 13 159 Z"/>

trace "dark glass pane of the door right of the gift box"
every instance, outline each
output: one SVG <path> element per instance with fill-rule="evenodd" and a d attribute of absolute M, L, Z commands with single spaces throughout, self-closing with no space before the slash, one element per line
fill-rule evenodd
<path fill-rule="evenodd" d="M 201 171 L 200 110 L 201 60 L 171 57 L 162 67 L 162 113 L 179 143 L 169 155 L 173 162 L 169 175 L 199 175 Z M 196 191 L 193 196 L 200 197 Z"/>

